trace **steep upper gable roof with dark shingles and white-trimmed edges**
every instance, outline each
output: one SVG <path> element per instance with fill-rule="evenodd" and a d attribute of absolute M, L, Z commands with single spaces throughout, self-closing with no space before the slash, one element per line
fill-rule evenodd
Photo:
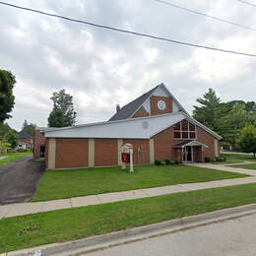
<path fill-rule="evenodd" d="M 180 107 L 180 109 L 185 112 L 187 111 L 184 109 L 184 107 L 178 102 L 178 100 L 170 94 L 170 92 L 167 90 L 167 88 L 161 83 L 154 89 L 150 90 L 148 93 L 137 97 L 133 101 L 129 102 L 128 104 L 124 105 L 118 112 L 116 112 L 108 121 L 116 121 L 116 120 L 123 120 L 131 118 L 132 115 L 135 113 L 136 110 L 138 110 L 142 104 L 154 94 L 155 91 L 157 91 L 158 88 L 162 87 L 166 93 L 172 97 L 172 99 L 177 103 L 177 105 Z"/>

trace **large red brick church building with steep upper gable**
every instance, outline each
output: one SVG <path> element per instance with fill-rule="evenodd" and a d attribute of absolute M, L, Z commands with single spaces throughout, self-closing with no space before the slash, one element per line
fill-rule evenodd
<path fill-rule="evenodd" d="M 202 162 L 220 154 L 221 136 L 191 118 L 163 84 L 117 107 L 109 121 L 36 132 L 46 138 L 50 169 L 119 165 L 125 143 L 134 146 L 135 164 L 164 158 Z"/>

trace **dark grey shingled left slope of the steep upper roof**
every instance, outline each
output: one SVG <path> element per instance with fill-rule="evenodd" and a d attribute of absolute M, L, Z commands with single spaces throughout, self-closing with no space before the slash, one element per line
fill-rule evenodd
<path fill-rule="evenodd" d="M 158 89 L 159 86 L 155 87 L 154 89 L 152 89 L 148 93 L 137 97 L 136 99 L 134 99 L 130 103 L 123 106 L 108 121 L 116 121 L 116 120 L 122 120 L 122 119 L 129 118 L 135 112 L 135 110 L 138 109 L 138 107 L 140 105 L 142 105 L 142 103 Z"/>

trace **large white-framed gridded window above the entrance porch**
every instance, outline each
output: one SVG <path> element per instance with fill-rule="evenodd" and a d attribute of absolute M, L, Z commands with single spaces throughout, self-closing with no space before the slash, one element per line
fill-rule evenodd
<path fill-rule="evenodd" d="M 196 126 L 188 120 L 182 120 L 174 125 L 174 139 L 194 140 L 196 138 Z"/>

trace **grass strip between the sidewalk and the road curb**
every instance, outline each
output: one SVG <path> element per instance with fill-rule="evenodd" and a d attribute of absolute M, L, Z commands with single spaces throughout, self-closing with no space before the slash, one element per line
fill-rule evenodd
<path fill-rule="evenodd" d="M 256 183 L 3 219 L 0 253 L 251 203 Z"/>

